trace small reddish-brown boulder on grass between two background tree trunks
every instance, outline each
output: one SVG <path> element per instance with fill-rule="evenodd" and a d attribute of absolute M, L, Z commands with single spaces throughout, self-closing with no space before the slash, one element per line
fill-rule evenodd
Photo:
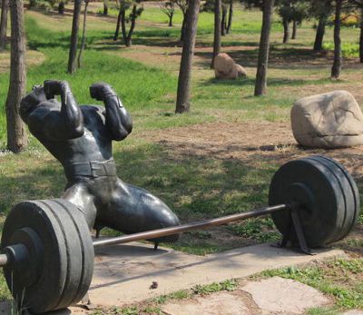
<path fill-rule="evenodd" d="M 217 54 L 214 58 L 214 73 L 217 79 L 234 80 L 239 76 L 247 76 L 246 70 L 225 53 Z"/>

